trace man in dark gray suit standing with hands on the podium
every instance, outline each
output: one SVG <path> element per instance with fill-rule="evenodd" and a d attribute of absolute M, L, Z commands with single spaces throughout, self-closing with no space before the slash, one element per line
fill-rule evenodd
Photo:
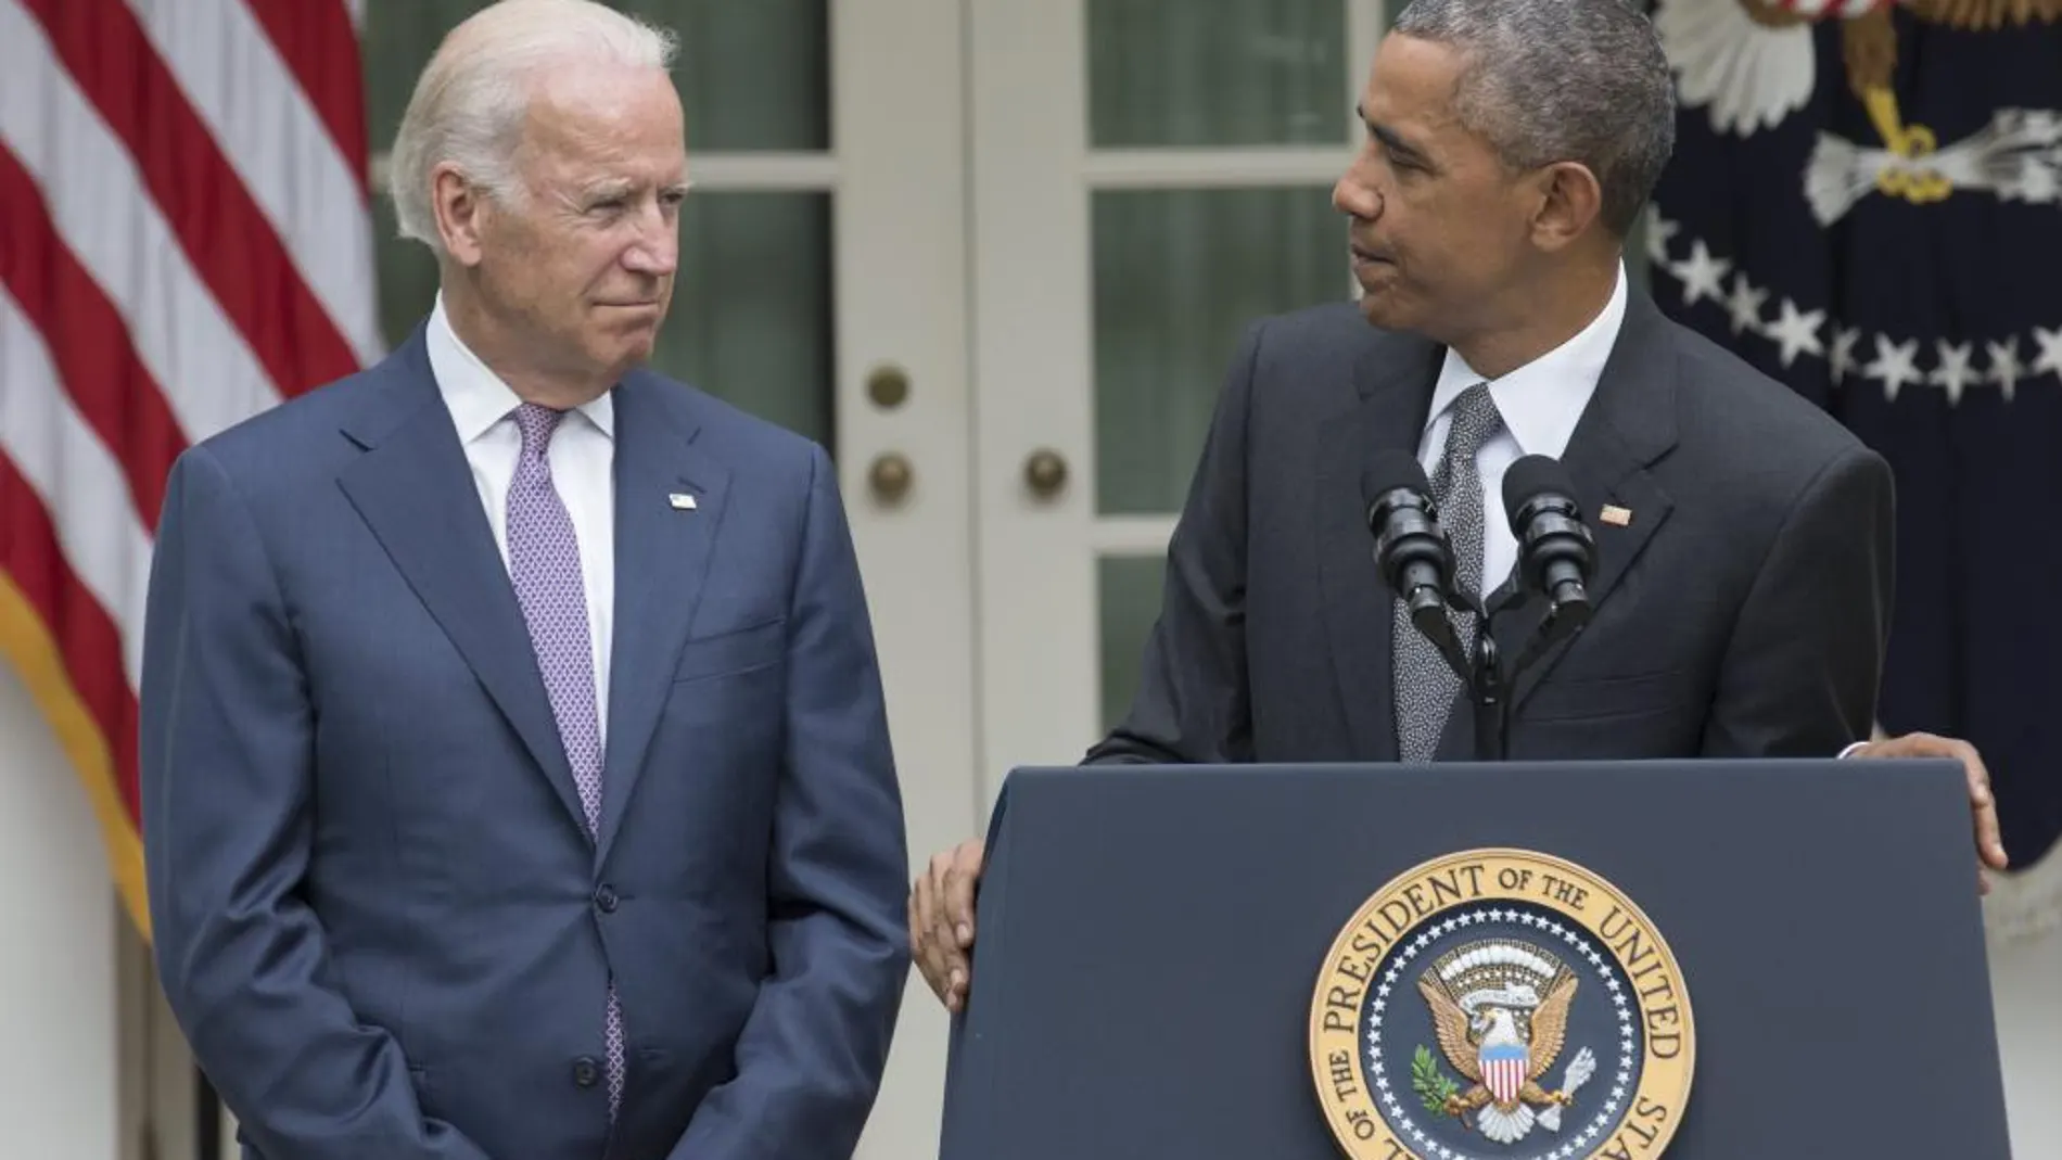
<path fill-rule="evenodd" d="M 1674 144 L 1654 31 L 1623 0 L 1417 0 L 1375 56 L 1334 190 L 1359 309 L 1245 336 L 1169 546 L 1130 715 L 1091 762 L 1472 756 L 1460 680 L 1369 558 L 1361 470 L 1415 453 L 1478 595 L 1511 575 L 1501 478 L 1567 468 L 1594 620 L 1511 690 L 1511 758 L 1959 756 L 1870 744 L 1891 614 L 1891 470 L 1821 410 L 1629 286 Z M 1470 618 L 1460 618 L 1472 635 Z M 1511 655 L 1530 620 L 1495 624 Z M 971 977 L 982 845 L 911 892 L 916 960 Z"/>

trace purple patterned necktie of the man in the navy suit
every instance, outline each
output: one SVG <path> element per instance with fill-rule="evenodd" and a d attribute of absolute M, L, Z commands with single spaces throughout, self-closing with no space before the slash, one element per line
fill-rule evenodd
<path fill-rule="evenodd" d="M 588 832 L 602 820 L 602 727 L 594 705 L 594 647 L 588 641 L 588 595 L 579 573 L 579 540 L 573 519 L 551 484 L 544 457 L 563 410 L 538 404 L 516 408 L 522 429 L 522 457 L 509 484 L 509 579 L 516 602 L 530 624 L 530 645 L 544 674 L 551 715 L 559 719 L 559 742 L 573 766 L 579 804 L 588 812 Z M 608 1121 L 623 1102 L 623 1008 L 608 985 Z"/>

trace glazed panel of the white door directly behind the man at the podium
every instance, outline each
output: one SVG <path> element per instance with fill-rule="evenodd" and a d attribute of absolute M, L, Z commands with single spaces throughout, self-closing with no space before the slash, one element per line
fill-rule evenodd
<path fill-rule="evenodd" d="M 1109 167 L 1120 187 L 1091 194 L 1089 239 L 1097 725 L 1107 729 L 1136 690 L 1165 536 L 1239 334 L 1258 317 L 1351 295 L 1332 181 L 1359 132 L 1353 97 L 1371 54 L 1349 31 L 1379 14 L 1340 0 L 1087 6 L 1091 140 L 1099 155 L 1132 161 Z M 1155 181 L 1151 152 L 1134 146 L 1194 152 Z"/>

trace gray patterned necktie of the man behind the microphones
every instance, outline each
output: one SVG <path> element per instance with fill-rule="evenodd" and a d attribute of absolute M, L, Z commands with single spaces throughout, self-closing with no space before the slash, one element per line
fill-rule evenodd
<path fill-rule="evenodd" d="M 1433 468 L 1431 503 L 1439 525 L 1454 542 L 1456 585 L 1468 593 L 1483 591 L 1483 476 L 1474 455 L 1497 431 L 1503 414 L 1489 398 L 1489 385 L 1476 383 L 1452 406 L 1454 422 L 1445 433 L 1445 455 Z M 1460 694 L 1460 678 L 1448 668 L 1439 649 L 1417 630 L 1404 602 L 1396 600 L 1394 647 L 1396 663 L 1396 752 L 1406 762 L 1431 760 L 1445 729 L 1445 713 Z M 1454 628 L 1462 651 L 1474 647 L 1474 616 L 1454 610 Z"/>

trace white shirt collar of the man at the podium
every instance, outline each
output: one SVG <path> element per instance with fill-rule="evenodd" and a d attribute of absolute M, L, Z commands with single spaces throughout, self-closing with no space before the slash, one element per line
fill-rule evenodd
<path fill-rule="evenodd" d="M 1518 367 L 1489 383 L 1489 398 L 1503 414 L 1503 427 L 1518 441 L 1522 455 L 1549 455 L 1559 459 L 1567 453 L 1567 441 L 1575 435 L 1590 396 L 1596 394 L 1596 379 L 1604 373 L 1610 348 L 1619 340 L 1619 326 L 1625 321 L 1625 264 L 1619 264 L 1619 280 L 1610 288 L 1610 301 L 1590 326 L 1573 338 L 1555 346 L 1546 354 Z M 1460 398 L 1460 391 L 1481 383 L 1483 375 L 1452 346 L 1445 348 L 1445 365 L 1439 367 L 1439 383 L 1431 391 L 1431 418 Z"/>

